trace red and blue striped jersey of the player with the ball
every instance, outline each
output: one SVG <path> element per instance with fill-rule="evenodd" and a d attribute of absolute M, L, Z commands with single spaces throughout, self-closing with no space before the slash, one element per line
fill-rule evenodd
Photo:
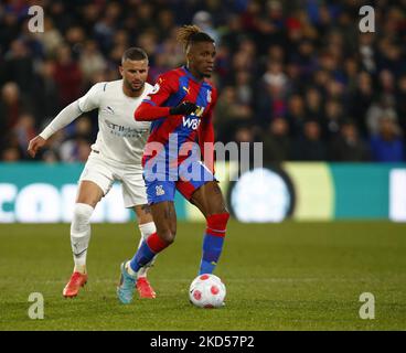
<path fill-rule="evenodd" d="M 137 120 L 152 120 L 148 142 L 159 142 L 168 148 L 170 135 L 177 133 L 178 151 L 186 142 L 199 137 L 202 156 L 203 143 L 214 142 L 212 113 L 217 100 L 217 90 L 206 81 L 195 78 L 186 67 L 179 67 L 162 74 L 152 92 L 142 100 L 135 113 Z M 192 101 L 197 106 L 195 113 L 188 116 L 169 116 L 169 108 L 182 101 Z M 160 107 L 160 108 L 159 108 Z M 212 153 L 212 151 L 211 151 Z M 142 165 L 153 156 L 145 153 Z M 186 157 L 178 158 L 178 164 Z M 212 165 L 207 165 L 212 170 Z"/>

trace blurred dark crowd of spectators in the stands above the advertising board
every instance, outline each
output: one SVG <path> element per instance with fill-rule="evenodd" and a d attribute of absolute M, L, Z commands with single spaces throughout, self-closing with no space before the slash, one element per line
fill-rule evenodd
<path fill-rule="evenodd" d="M 29 31 L 29 7 L 44 32 Z M 360 8 L 374 8 L 362 33 Z M 406 1 L 2 0 L 0 160 L 92 85 L 120 78 L 124 51 L 149 54 L 149 82 L 184 64 L 175 29 L 215 39 L 216 139 L 264 142 L 266 162 L 405 161 Z M 55 133 L 38 160 L 85 161 L 97 111 Z"/>

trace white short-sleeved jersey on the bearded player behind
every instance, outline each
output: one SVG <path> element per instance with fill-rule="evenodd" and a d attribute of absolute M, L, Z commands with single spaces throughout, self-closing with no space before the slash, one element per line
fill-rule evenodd
<path fill-rule="evenodd" d="M 83 113 L 98 108 L 99 131 L 92 150 L 103 158 L 142 169 L 141 159 L 151 122 L 136 121 L 133 113 L 151 90 L 152 86 L 146 83 L 141 96 L 128 97 L 122 92 L 122 79 L 118 79 L 97 83 L 79 98 Z"/>

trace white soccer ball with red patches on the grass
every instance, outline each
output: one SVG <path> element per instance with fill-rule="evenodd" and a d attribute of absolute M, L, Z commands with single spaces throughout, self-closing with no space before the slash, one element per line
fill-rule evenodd
<path fill-rule="evenodd" d="M 212 274 L 197 276 L 191 284 L 189 299 L 199 308 L 221 308 L 224 306 L 225 286 Z"/>

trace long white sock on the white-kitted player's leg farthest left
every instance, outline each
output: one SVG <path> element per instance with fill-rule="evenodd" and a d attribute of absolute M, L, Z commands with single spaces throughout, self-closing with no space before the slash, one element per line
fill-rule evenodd
<path fill-rule="evenodd" d="M 76 203 L 71 224 L 71 245 L 73 260 L 75 263 L 74 271 L 86 272 L 86 255 L 90 240 L 90 216 L 94 208 L 85 203 Z"/>

